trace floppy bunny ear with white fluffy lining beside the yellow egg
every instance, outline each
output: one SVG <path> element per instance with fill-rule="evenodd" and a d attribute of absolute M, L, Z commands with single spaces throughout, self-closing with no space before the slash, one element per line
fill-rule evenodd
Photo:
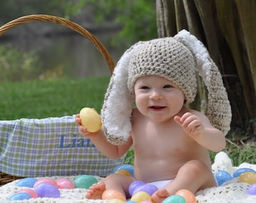
<path fill-rule="evenodd" d="M 130 137 L 133 96 L 127 88 L 128 65 L 134 51 L 142 44 L 134 44 L 120 57 L 105 94 L 101 111 L 102 129 L 112 144 L 124 144 Z"/>

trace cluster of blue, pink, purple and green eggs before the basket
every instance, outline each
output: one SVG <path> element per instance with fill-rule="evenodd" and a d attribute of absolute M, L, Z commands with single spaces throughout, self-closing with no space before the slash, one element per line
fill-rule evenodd
<path fill-rule="evenodd" d="M 58 180 L 42 178 L 37 180 L 34 177 L 26 177 L 17 181 L 16 186 L 23 187 L 23 189 L 11 195 L 8 201 L 29 198 L 60 198 L 59 189 L 88 189 L 93 183 L 97 182 L 96 177 L 87 174 L 75 177 L 73 181 L 67 178 L 59 178 Z"/>

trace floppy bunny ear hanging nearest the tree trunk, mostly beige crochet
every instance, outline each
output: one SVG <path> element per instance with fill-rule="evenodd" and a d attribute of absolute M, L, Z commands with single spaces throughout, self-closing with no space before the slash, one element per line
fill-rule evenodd
<path fill-rule="evenodd" d="M 209 56 L 209 52 L 201 41 L 194 35 L 190 35 L 186 30 L 181 30 L 174 37 L 184 44 L 196 59 L 196 69 L 208 89 L 208 107 L 207 116 L 212 126 L 224 132 L 224 135 L 230 130 L 231 108 L 227 98 L 227 92 L 224 88 L 221 73 L 215 62 Z"/>

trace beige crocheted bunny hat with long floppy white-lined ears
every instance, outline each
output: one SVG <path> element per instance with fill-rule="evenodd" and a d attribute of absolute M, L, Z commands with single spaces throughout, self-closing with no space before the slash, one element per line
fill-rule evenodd
<path fill-rule="evenodd" d="M 184 93 L 186 104 L 197 94 L 198 71 L 208 89 L 207 116 L 212 126 L 230 129 L 231 108 L 221 73 L 209 52 L 186 30 L 173 38 L 141 41 L 126 50 L 117 62 L 102 106 L 102 129 L 112 144 L 123 144 L 130 137 L 134 103 L 133 85 L 143 75 L 171 80 Z"/>

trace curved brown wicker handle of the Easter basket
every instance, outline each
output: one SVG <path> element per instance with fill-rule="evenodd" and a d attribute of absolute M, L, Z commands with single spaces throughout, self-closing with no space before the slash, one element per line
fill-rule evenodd
<path fill-rule="evenodd" d="M 108 64 L 108 68 L 110 69 L 111 73 L 114 71 L 114 61 L 104 45 L 87 29 L 84 29 L 82 26 L 78 25 L 77 23 L 74 23 L 70 20 L 67 20 L 62 17 L 56 17 L 56 16 L 50 16 L 46 14 L 33 14 L 28 16 L 19 17 L 15 20 L 11 20 L 10 22 L 6 23 L 5 25 L 0 27 L 0 36 L 4 35 L 5 32 L 7 32 L 9 29 L 19 26 L 24 23 L 31 23 L 35 21 L 45 21 L 50 23 L 57 23 L 62 26 L 66 26 L 69 29 L 74 30 L 75 32 L 80 33 L 85 38 L 90 40 L 93 45 L 99 50 L 99 53 L 102 54 L 103 58 L 105 59 L 105 62 Z"/>

